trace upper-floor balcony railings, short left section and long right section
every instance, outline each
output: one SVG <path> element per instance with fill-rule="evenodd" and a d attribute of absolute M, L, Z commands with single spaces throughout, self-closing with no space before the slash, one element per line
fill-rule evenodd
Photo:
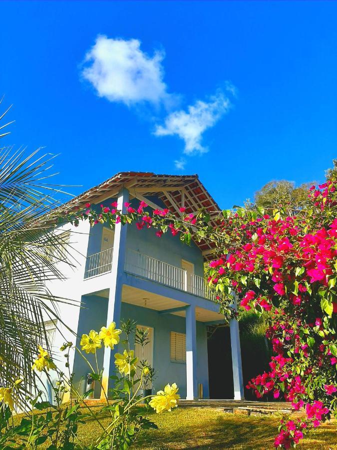
<path fill-rule="evenodd" d="M 112 248 L 108 248 L 88 256 L 84 278 L 111 271 L 112 250 Z M 175 289 L 184 290 L 198 297 L 216 301 L 216 292 L 208 286 L 202 276 L 189 273 L 180 267 L 139 251 L 126 250 L 125 271 Z"/>

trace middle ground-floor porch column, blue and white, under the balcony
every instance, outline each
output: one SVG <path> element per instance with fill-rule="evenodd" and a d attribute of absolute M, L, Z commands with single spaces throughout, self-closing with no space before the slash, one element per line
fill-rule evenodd
<path fill-rule="evenodd" d="M 195 306 L 190 304 L 186 308 L 186 399 L 197 398 L 197 324 Z"/>

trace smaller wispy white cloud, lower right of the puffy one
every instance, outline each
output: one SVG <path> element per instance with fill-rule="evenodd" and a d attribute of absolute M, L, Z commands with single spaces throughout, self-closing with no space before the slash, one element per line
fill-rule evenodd
<path fill-rule="evenodd" d="M 208 151 L 201 143 L 202 135 L 228 111 L 230 100 L 222 90 L 218 90 L 208 101 L 197 100 L 184 110 L 170 113 L 164 125 L 157 125 L 156 136 L 177 135 L 185 141 L 184 153 L 204 153 Z M 179 161 L 178 161 L 179 162 Z M 177 167 L 177 161 L 175 161 Z M 183 168 L 183 167 L 177 167 Z"/>

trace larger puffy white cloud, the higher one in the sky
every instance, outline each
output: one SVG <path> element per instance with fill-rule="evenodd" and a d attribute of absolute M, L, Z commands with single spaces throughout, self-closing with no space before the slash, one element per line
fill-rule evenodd
<path fill-rule="evenodd" d="M 164 52 L 149 56 L 138 39 L 110 39 L 99 35 L 85 56 L 83 77 L 100 97 L 127 105 L 148 101 L 158 104 L 168 99 L 161 62 Z"/>

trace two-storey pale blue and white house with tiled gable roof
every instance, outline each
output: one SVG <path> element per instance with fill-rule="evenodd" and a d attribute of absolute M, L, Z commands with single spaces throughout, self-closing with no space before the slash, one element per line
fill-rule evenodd
<path fill-rule="evenodd" d="M 125 202 L 138 205 L 139 200 L 144 200 L 148 207 L 167 207 L 177 214 L 182 205 L 187 212 L 200 207 L 219 210 L 198 175 L 143 172 L 117 173 L 65 207 L 82 207 L 90 202 L 100 210 L 101 204 L 110 205 L 116 200 L 119 209 L 125 208 Z M 138 230 L 134 224 L 119 223 L 111 230 L 100 223 L 90 227 L 88 221 L 80 221 L 77 227 L 65 224 L 58 231 L 68 233 L 76 262 L 73 267 L 63 263 L 67 279 L 52 281 L 49 288 L 54 295 L 81 302 L 82 307 L 60 304 L 58 313 L 64 323 L 59 322 L 57 327 L 48 317 L 46 325 L 55 351 L 65 340 L 74 341 L 67 326 L 76 331 L 79 346 L 82 333 L 99 330 L 111 321 L 118 327 L 121 319 L 131 318 L 150 331 L 146 357 L 158 373 L 154 390 L 176 382 L 182 398 L 197 399 L 201 386 L 203 397 L 209 398 L 207 328 L 224 321 L 214 301 L 215 293 L 204 281 L 204 261 L 211 257 L 212 244 L 204 241 L 188 246 L 171 233 L 158 238 L 152 228 Z M 234 319 L 230 335 L 234 397 L 242 399 L 239 328 Z M 116 350 L 122 350 L 121 344 Z M 105 385 L 115 369 L 113 351 L 98 350 Z M 80 380 L 87 375 L 86 362 L 76 353 L 69 364 L 70 371 L 75 372 L 75 384 L 83 391 L 85 382 Z M 99 398 L 100 394 L 96 385 L 94 396 Z"/>

